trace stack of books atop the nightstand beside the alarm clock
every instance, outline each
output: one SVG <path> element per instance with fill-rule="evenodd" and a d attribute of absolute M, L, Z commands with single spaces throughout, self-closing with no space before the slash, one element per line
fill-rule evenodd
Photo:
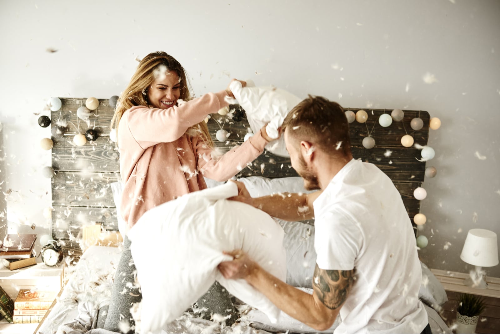
<path fill-rule="evenodd" d="M 7 234 L 0 247 L 0 260 L 10 270 L 36 264 L 33 254 L 36 234 Z"/>

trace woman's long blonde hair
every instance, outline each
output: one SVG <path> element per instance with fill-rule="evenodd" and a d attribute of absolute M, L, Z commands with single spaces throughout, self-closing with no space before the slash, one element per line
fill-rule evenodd
<path fill-rule="evenodd" d="M 179 98 L 188 101 L 191 93 L 189 90 L 189 81 L 184 67 L 171 55 L 163 51 L 151 52 L 140 60 L 135 73 L 130 78 L 130 82 L 123 90 L 116 103 L 113 118 L 111 119 L 111 128 L 116 130 L 118 136 L 118 123 L 123 113 L 135 105 L 149 106 L 147 99 L 147 90 L 154 83 L 154 70 L 160 65 L 166 66 L 168 70 L 174 71 L 179 77 L 180 96 Z M 204 121 L 201 121 L 187 129 L 186 133 L 193 135 L 201 133 L 202 140 L 210 147 L 213 147 L 213 141 L 208 133 L 208 127 Z"/>

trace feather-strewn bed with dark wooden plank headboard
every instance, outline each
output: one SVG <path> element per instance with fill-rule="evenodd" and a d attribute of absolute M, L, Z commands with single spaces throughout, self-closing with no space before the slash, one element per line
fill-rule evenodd
<path fill-rule="evenodd" d="M 86 248 L 81 237 L 85 227 L 100 224 L 102 232 L 116 232 L 116 184 L 118 180 L 118 154 L 110 140 L 107 126 L 113 108 L 107 99 L 99 99 L 99 107 L 87 120 L 78 119 L 75 110 L 84 105 L 84 98 L 61 98 L 62 107 L 52 111 L 53 124 L 65 125 L 62 137 L 53 138 L 52 167 L 52 236 L 63 244 L 68 262 L 77 260 L 76 265 L 68 266 L 69 277 L 51 310 L 38 326 L 36 332 L 102 332 L 99 327 L 99 310 L 109 304 L 114 271 L 121 248 L 93 245 Z M 227 151 L 234 144 L 242 142 L 248 131 L 248 123 L 243 118 L 234 121 L 231 115 L 238 110 L 231 105 L 228 115 L 213 114 L 207 125 L 216 148 Z M 357 111 L 357 108 L 349 108 Z M 405 110 L 401 121 L 382 127 L 377 118 L 392 109 L 366 109 L 368 120 L 365 123 L 354 121 L 350 124 L 352 153 L 355 158 L 376 164 L 393 181 L 401 193 L 408 215 L 419 212 L 419 200 L 413 197 L 413 190 L 424 180 L 425 161 L 415 147 L 403 147 L 400 138 L 411 134 L 415 143 L 426 145 L 428 138 L 429 114 L 426 111 Z M 419 117 L 424 126 L 412 130 L 412 118 Z M 54 122 L 55 121 L 55 122 Z M 72 137 L 93 128 L 99 137 L 84 146 L 72 144 Z M 215 132 L 224 128 L 230 132 L 226 141 L 216 140 Z M 367 149 L 362 140 L 370 133 L 376 146 Z M 282 191 L 302 191 L 300 177 L 291 168 L 289 159 L 264 151 L 254 163 L 236 175 L 245 183 L 252 196 L 260 196 Z M 209 187 L 220 182 L 206 179 Z M 115 190 L 113 193 L 113 190 Z M 114 195 L 114 196 L 113 196 Z M 283 245 L 286 250 L 286 281 L 297 288 L 311 292 L 310 279 L 314 268 L 313 248 L 314 226 L 310 221 L 278 221 L 285 232 Z M 415 234 L 417 233 L 416 227 Z M 83 252 L 84 250 L 84 252 Z M 81 256 L 81 257 L 80 257 Z M 438 314 L 440 305 L 446 300 L 446 293 L 430 270 L 422 265 L 422 285 L 419 298 L 427 309 L 429 324 L 433 332 L 451 332 Z M 258 309 L 236 300 L 240 311 L 239 320 L 231 327 L 217 321 L 204 320 L 187 310 L 176 320 L 163 328 L 164 332 L 318 332 L 301 324 L 286 314 L 277 323 L 271 323 Z M 339 319 L 324 332 L 333 332 Z"/>

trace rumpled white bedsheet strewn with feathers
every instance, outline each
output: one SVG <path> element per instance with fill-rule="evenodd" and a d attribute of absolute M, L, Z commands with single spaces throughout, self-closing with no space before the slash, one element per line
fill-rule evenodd
<path fill-rule="evenodd" d="M 38 333 L 112 333 L 95 324 L 96 309 L 109 304 L 112 278 L 119 261 L 121 248 L 107 246 L 89 247 L 78 264 L 69 267 L 70 276 L 61 296 L 47 315 Z M 438 313 L 425 305 L 428 321 L 433 333 L 451 333 Z M 257 309 L 247 305 L 240 306 L 243 314 L 232 327 L 222 327 L 219 323 L 198 318 L 192 312 L 181 316 L 166 325 L 163 333 L 268 333 L 268 332 L 307 332 L 303 327 L 297 331 L 298 321 L 289 316 L 281 316 L 277 324 L 266 323 L 268 318 Z M 338 321 L 336 321 L 338 322 Z M 303 326 L 303 324 L 302 324 Z M 88 330 L 90 329 L 90 330 Z M 295 330 L 293 330 L 295 329 Z M 332 328 L 330 328 L 332 329 Z M 87 331 L 88 330 L 88 331 Z M 330 330 L 332 331 L 332 330 Z"/>

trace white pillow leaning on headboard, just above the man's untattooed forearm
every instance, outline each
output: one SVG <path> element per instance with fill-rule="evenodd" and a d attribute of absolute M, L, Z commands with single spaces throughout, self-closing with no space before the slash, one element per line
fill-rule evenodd
<path fill-rule="evenodd" d="M 252 197 L 266 196 L 277 192 L 302 192 L 305 190 L 304 180 L 300 176 L 267 178 L 262 176 L 248 176 L 237 179 L 244 183 Z"/>

